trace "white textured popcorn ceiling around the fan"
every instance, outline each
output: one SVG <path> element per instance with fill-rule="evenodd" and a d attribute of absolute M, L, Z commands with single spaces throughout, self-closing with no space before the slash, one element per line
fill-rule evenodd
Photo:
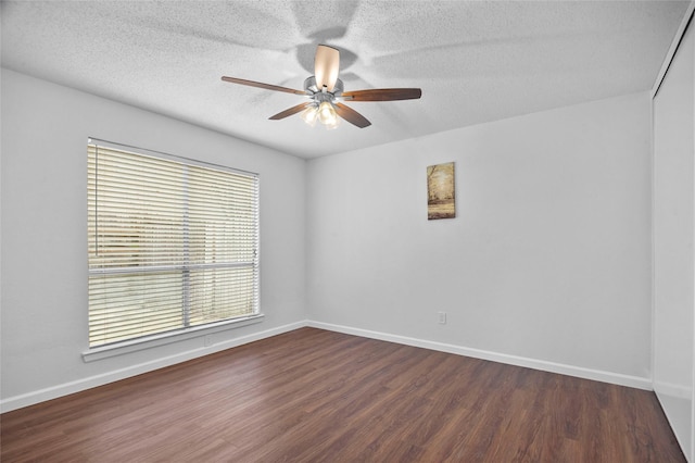
<path fill-rule="evenodd" d="M 2 66 L 315 158 L 654 85 L 688 1 L 2 1 Z M 317 43 L 341 50 L 353 102 L 336 130 L 268 117 L 302 97 Z M 127 140 L 119 140 L 127 142 Z"/>

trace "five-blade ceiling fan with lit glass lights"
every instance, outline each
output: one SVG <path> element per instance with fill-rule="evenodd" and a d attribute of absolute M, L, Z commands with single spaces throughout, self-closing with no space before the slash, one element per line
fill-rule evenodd
<path fill-rule="evenodd" d="M 375 88 L 369 90 L 344 91 L 343 83 L 338 78 L 340 68 L 340 51 L 333 47 L 319 45 L 314 58 L 314 75 L 304 80 L 304 90 L 294 90 L 278 85 L 263 84 L 236 77 L 223 76 L 223 80 L 232 84 L 248 85 L 250 87 L 265 88 L 266 90 L 283 91 L 307 97 L 309 101 L 279 112 L 269 118 L 279 121 L 299 112 L 302 118 L 309 125 L 318 120 L 327 128 L 334 128 L 338 117 L 359 128 L 371 125 L 369 121 L 357 111 L 343 104 L 343 101 L 395 101 L 414 100 L 422 96 L 419 88 Z"/>

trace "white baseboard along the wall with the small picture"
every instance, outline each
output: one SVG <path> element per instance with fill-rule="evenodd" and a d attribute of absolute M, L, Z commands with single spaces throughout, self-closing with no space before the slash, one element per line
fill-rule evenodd
<path fill-rule="evenodd" d="M 448 345 L 444 342 L 428 341 L 424 339 L 409 338 L 406 336 L 391 335 L 388 333 L 371 331 L 368 329 L 353 328 L 349 326 L 333 325 L 321 322 L 308 322 L 308 326 L 328 329 L 331 331 L 344 333 L 346 335 L 362 336 L 365 338 L 379 339 L 382 341 L 396 342 L 406 346 L 419 347 L 437 350 L 441 352 L 455 353 L 458 355 L 471 356 L 475 359 L 490 360 L 508 365 L 525 366 L 527 368 L 540 370 L 561 375 L 576 376 L 583 379 L 592 379 L 603 383 L 610 383 L 619 386 L 628 386 L 637 389 L 654 390 L 652 378 L 623 375 L 620 373 L 604 372 L 601 370 L 584 368 L 581 366 L 566 365 L 561 363 L 547 362 L 544 360 L 529 359 L 525 356 L 509 355 L 505 353 L 491 352 L 480 349 L 472 349 L 462 346 Z"/>

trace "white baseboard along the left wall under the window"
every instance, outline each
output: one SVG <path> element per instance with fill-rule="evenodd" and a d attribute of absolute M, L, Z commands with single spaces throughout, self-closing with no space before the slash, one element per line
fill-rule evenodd
<path fill-rule="evenodd" d="M 177 353 L 176 355 L 165 356 L 165 358 L 156 359 L 150 362 L 139 363 L 137 365 L 128 366 L 127 368 L 115 370 L 113 372 L 108 372 L 101 375 L 90 376 L 84 379 L 78 379 L 75 381 L 52 386 L 46 389 L 35 390 L 35 391 L 23 393 L 20 396 L 10 397 L 8 399 L 0 400 L 0 413 L 10 412 L 12 410 L 17 410 L 24 406 L 34 405 L 35 403 L 45 402 L 47 400 L 56 399 L 59 397 L 79 392 L 86 389 L 91 389 L 93 387 L 103 386 L 109 383 L 114 383 L 119 379 L 125 379 L 131 376 L 140 375 L 142 373 L 148 373 L 154 370 L 163 368 L 165 366 L 170 366 L 177 363 L 198 359 L 200 356 L 208 355 L 211 353 L 219 352 L 222 350 L 226 350 L 226 349 L 242 346 L 249 342 L 269 338 L 271 336 L 281 335 L 282 333 L 291 331 L 298 328 L 302 328 L 304 326 L 307 326 L 306 321 L 296 322 L 289 325 L 279 326 L 277 328 L 270 328 L 264 331 L 254 333 L 248 336 L 241 336 L 239 338 L 229 339 L 227 341 L 217 342 L 212 346 L 188 350 L 186 352 Z"/>

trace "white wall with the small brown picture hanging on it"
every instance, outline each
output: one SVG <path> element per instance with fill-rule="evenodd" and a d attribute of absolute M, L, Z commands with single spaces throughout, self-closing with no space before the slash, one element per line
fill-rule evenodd
<path fill-rule="evenodd" d="M 426 166 L 448 161 L 457 217 L 428 222 Z M 316 159 L 308 180 L 317 326 L 650 387 L 647 93 Z"/>

